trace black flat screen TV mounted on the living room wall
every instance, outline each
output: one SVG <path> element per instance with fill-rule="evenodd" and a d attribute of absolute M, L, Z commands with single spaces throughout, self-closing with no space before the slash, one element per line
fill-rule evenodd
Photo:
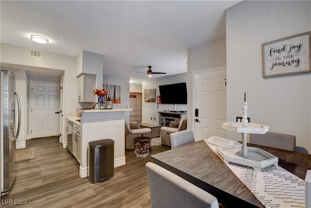
<path fill-rule="evenodd" d="M 161 104 L 187 104 L 186 82 L 160 85 Z"/>

